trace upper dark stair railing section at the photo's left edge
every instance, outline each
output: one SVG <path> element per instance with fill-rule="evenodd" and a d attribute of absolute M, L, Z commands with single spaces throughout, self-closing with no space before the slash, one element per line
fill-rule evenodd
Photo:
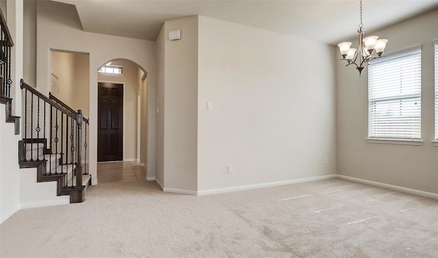
<path fill-rule="evenodd" d="M 0 9 L 0 96 L 11 96 L 11 48 L 14 46 L 5 16 Z"/>

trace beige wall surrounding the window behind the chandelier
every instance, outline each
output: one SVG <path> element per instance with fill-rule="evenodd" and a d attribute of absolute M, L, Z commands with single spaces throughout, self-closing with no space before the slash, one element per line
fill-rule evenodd
<path fill-rule="evenodd" d="M 338 173 L 364 180 L 438 193 L 438 147 L 433 147 L 433 40 L 438 10 L 373 32 L 389 39 L 386 53 L 422 46 L 422 146 L 366 143 L 368 72 L 359 77 L 337 62 Z M 355 39 L 356 41 L 356 39 Z M 336 50 L 337 57 L 340 58 Z"/>

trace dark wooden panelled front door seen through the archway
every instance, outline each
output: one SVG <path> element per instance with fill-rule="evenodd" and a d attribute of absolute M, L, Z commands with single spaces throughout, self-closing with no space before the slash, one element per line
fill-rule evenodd
<path fill-rule="evenodd" d="M 97 161 L 123 160 L 123 85 L 98 83 Z"/>

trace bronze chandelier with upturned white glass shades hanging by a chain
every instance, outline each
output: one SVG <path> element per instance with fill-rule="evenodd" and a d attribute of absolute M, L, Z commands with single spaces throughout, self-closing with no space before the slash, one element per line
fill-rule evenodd
<path fill-rule="evenodd" d="M 362 0 L 360 0 L 360 2 L 361 23 L 359 23 L 359 29 L 357 29 L 357 33 L 359 33 L 359 46 L 356 49 L 350 48 L 351 42 L 341 42 L 337 44 L 342 55 L 342 59 L 340 60 L 347 61 L 346 66 L 355 65 L 359 71 L 359 76 L 362 75 L 362 70 L 365 69 L 368 62 L 382 56 L 386 43 L 388 42 L 388 40 L 383 38 L 378 40 L 378 36 L 376 35 L 363 38 L 363 31 L 365 31 L 365 29 L 362 23 Z"/>

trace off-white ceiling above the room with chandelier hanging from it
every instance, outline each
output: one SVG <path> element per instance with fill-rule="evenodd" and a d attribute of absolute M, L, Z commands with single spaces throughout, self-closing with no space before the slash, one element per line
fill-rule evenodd
<path fill-rule="evenodd" d="M 148 1 L 57 0 L 76 5 L 85 31 L 155 40 L 164 21 L 202 15 L 335 44 L 359 27 L 358 0 Z M 438 0 L 363 0 L 363 24 L 373 31 L 438 8 Z"/>

